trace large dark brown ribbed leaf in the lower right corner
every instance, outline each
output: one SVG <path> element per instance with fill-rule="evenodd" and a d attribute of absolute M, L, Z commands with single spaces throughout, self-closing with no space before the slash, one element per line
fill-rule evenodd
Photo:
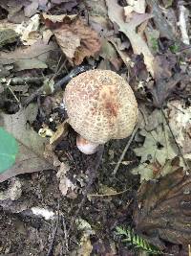
<path fill-rule="evenodd" d="M 165 247 L 164 241 L 190 244 L 190 201 L 191 175 L 185 175 L 182 168 L 160 177 L 156 183 L 143 183 L 134 213 L 138 232 L 161 249 Z"/>

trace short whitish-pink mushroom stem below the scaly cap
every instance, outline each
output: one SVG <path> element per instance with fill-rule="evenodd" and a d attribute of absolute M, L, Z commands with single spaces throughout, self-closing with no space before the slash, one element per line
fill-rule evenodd
<path fill-rule="evenodd" d="M 97 147 L 99 146 L 99 144 L 90 142 L 78 135 L 76 137 L 76 146 L 79 151 L 85 154 L 92 154 L 97 151 Z"/>

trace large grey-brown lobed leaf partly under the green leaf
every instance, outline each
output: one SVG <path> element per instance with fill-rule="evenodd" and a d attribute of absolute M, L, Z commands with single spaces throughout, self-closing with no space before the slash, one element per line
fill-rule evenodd
<path fill-rule="evenodd" d="M 31 115 L 31 116 L 30 116 Z M 53 169 L 52 164 L 43 158 L 47 140 L 41 138 L 27 122 L 35 118 L 34 109 L 21 109 L 13 115 L 0 113 L 1 126 L 9 131 L 19 143 L 19 153 L 11 169 L 0 175 L 0 182 L 11 176 Z"/>

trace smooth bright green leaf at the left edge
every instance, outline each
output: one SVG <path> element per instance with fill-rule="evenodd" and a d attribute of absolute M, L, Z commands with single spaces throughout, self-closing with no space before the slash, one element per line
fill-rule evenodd
<path fill-rule="evenodd" d="M 18 152 L 17 141 L 4 128 L 0 128 L 0 174 L 15 162 Z"/>

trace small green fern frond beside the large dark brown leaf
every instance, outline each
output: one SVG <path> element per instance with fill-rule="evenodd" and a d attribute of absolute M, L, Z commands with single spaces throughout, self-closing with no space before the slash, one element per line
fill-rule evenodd
<path fill-rule="evenodd" d="M 145 250 L 146 252 L 155 255 L 163 254 L 156 246 L 149 244 L 145 239 L 135 234 L 134 230 L 132 230 L 130 227 L 125 229 L 123 227 L 117 226 L 117 235 L 124 236 L 122 242 L 131 244 L 138 249 Z"/>

